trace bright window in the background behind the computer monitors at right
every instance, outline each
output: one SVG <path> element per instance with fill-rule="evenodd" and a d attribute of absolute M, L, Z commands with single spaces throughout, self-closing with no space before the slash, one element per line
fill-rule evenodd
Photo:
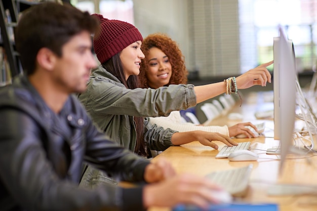
<path fill-rule="evenodd" d="M 240 0 L 239 13 L 242 70 L 273 59 L 279 25 L 293 40 L 297 70 L 315 65 L 317 0 Z"/>

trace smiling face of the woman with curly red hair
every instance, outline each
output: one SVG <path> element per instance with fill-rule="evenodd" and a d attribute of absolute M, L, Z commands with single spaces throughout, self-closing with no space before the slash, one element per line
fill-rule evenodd
<path fill-rule="evenodd" d="M 147 84 L 151 88 L 159 88 L 170 82 L 172 76 L 172 66 L 169 58 L 164 52 L 152 47 L 148 51 L 146 78 Z"/>

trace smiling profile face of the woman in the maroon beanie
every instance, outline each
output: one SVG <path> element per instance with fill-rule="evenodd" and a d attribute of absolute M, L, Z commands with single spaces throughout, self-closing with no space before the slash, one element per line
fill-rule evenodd
<path fill-rule="evenodd" d="M 141 44 L 142 42 L 140 40 L 136 41 L 128 45 L 120 53 L 120 60 L 126 80 L 128 80 L 129 76 L 139 75 L 140 73 L 140 63 L 141 60 L 144 59 L 144 54 L 140 48 Z"/>

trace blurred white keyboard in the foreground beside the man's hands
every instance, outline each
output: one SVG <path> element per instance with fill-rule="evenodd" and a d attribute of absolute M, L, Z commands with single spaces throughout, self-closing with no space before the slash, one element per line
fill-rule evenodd
<path fill-rule="evenodd" d="M 225 171 L 212 172 L 206 177 L 222 187 L 234 197 L 246 195 L 253 165 Z"/>

